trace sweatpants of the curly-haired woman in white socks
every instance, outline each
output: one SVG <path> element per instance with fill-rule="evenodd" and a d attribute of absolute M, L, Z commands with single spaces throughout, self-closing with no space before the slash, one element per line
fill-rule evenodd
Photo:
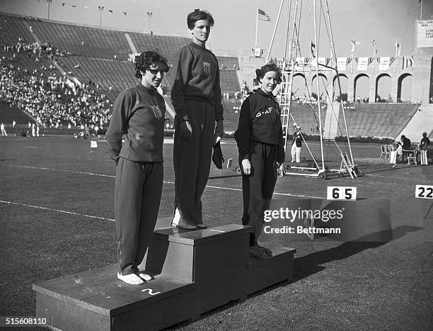
<path fill-rule="evenodd" d="M 116 170 L 115 219 L 120 273 L 136 274 L 158 218 L 163 163 L 120 157 Z"/>

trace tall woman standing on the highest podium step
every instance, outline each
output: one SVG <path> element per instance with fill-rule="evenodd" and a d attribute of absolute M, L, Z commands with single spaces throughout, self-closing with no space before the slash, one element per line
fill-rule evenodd
<path fill-rule="evenodd" d="M 187 16 L 187 26 L 192 42 L 175 57 L 171 87 L 176 113 L 172 225 L 194 230 L 207 228 L 203 224 L 201 199 L 209 178 L 212 145 L 218 136 L 222 138 L 224 127 L 218 61 L 206 49 L 214 18 L 207 11 L 195 9 Z"/>

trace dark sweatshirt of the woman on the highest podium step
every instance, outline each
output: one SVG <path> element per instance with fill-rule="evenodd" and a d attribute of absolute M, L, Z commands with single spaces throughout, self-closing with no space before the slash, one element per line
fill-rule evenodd
<path fill-rule="evenodd" d="M 186 100 L 203 100 L 214 105 L 215 120 L 223 120 L 217 57 L 210 50 L 190 43 L 179 50 L 173 63 L 171 101 L 175 112 L 183 117 Z"/>

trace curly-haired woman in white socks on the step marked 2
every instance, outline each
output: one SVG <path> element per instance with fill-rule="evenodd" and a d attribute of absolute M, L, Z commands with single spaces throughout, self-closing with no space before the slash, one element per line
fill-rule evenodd
<path fill-rule="evenodd" d="M 135 70 L 141 82 L 117 96 L 105 136 L 110 157 L 117 164 L 117 278 L 143 284 L 151 276 L 137 266 L 154 232 L 163 184 L 166 106 L 156 88 L 168 72 L 167 59 L 156 52 L 142 52 L 135 57 Z"/>

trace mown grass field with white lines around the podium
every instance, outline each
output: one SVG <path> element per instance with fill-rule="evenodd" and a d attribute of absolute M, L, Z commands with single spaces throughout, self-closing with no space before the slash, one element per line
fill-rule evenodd
<path fill-rule="evenodd" d="M 287 176 L 278 179 L 272 202 L 272 208 L 296 208 L 308 199 L 326 208 L 344 206 L 345 236 L 311 241 L 306 235 L 262 235 L 264 243 L 297 249 L 294 281 L 174 328 L 432 329 L 433 211 L 423 219 L 431 200 L 415 198 L 415 185 L 432 185 L 433 167 L 392 168 L 379 162 L 379 146 L 353 147 L 365 176 Z M 222 148 L 226 159 L 237 159 L 233 140 Z M 164 149 L 159 217 L 168 219 L 173 144 Z M 340 163 L 333 150 L 325 157 Z M 0 138 L 0 315 L 35 316 L 31 284 L 116 262 L 114 175 L 105 142 L 91 150 L 89 140 L 71 137 Z M 327 186 L 356 186 L 358 199 L 323 201 Z M 241 223 L 241 177 L 212 166 L 203 205 L 208 225 Z"/>

